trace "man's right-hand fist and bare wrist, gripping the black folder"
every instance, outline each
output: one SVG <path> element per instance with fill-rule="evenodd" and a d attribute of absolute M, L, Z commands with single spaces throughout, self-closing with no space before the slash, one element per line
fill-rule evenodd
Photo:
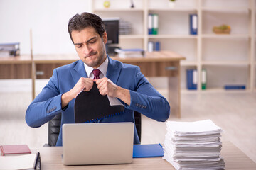
<path fill-rule="evenodd" d="M 127 105 L 130 105 L 131 96 L 128 89 L 117 86 L 110 79 L 107 79 L 107 77 L 94 81 L 96 82 L 101 95 L 119 98 L 124 101 L 124 103 L 127 103 Z"/>

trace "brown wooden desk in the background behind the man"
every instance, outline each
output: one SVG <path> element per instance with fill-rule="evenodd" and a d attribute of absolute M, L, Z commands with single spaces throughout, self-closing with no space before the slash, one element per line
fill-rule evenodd
<path fill-rule="evenodd" d="M 171 114 L 181 117 L 180 60 L 185 57 L 162 51 L 146 52 L 145 57 L 112 59 L 139 66 L 146 77 L 168 77 Z M 0 58 L 0 79 L 32 79 L 32 96 L 35 98 L 36 79 L 49 79 L 53 69 L 76 60 L 79 60 L 77 55 L 34 55 L 33 60 L 27 56 Z"/>

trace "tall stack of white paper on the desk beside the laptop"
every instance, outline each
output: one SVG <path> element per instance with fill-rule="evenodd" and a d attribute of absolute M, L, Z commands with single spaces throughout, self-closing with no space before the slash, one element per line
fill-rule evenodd
<path fill-rule="evenodd" d="M 225 169 L 220 157 L 223 130 L 211 120 L 166 123 L 164 159 L 176 169 Z"/>

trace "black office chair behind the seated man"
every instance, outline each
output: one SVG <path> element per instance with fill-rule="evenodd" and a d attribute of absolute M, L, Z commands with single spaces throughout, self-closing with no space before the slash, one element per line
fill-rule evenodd
<path fill-rule="evenodd" d="M 139 141 L 142 138 L 142 115 L 141 113 L 135 111 L 135 126 L 139 135 Z M 61 125 L 61 114 L 56 115 L 52 120 L 48 123 L 48 144 L 44 146 L 52 147 L 56 145 L 58 140 L 58 135 L 60 133 L 60 125 Z"/>

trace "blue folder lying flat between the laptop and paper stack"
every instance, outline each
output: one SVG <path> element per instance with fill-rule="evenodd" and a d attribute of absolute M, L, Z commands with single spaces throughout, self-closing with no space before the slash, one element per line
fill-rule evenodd
<path fill-rule="evenodd" d="M 161 144 L 134 145 L 133 158 L 163 157 L 164 149 Z"/>

